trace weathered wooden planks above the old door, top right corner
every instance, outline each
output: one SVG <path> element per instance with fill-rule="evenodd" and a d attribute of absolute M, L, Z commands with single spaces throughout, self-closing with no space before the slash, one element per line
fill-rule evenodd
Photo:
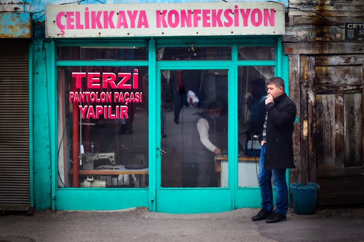
<path fill-rule="evenodd" d="M 344 42 L 344 23 L 363 22 L 363 0 L 289 0 L 288 7 L 283 42 L 308 42 L 308 31 L 315 41 Z"/>

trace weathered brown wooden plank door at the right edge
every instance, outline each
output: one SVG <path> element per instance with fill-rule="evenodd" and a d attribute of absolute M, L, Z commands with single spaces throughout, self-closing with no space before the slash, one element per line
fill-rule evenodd
<path fill-rule="evenodd" d="M 363 55 L 314 57 L 318 204 L 364 202 Z"/>

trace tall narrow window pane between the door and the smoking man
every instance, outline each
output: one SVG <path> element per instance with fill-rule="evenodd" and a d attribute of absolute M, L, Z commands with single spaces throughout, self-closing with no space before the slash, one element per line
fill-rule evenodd
<path fill-rule="evenodd" d="M 261 146 L 258 136 L 265 121 L 265 81 L 273 66 L 241 66 L 238 69 L 238 186 L 257 187 Z"/>

